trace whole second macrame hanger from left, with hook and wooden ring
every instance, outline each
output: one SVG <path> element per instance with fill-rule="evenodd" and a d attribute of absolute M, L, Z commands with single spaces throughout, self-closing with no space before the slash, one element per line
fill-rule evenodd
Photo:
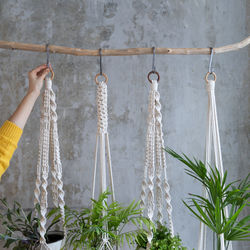
<path fill-rule="evenodd" d="M 108 77 L 102 72 L 102 50 L 99 50 L 100 54 L 100 73 L 95 77 L 97 84 L 97 134 L 96 134 L 96 147 L 95 147 L 95 163 L 94 163 L 94 175 L 93 175 L 93 186 L 92 186 L 92 199 L 95 198 L 95 186 L 96 186 L 96 170 L 98 161 L 98 148 L 99 148 L 99 160 L 100 160 L 100 191 L 101 193 L 107 191 L 107 174 L 106 174 L 106 162 L 109 168 L 109 179 L 111 187 L 111 198 L 115 201 L 113 173 L 111 165 L 111 154 L 109 146 L 109 134 L 108 134 L 108 109 L 107 109 L 107 82 Z M 99 81 L 99 77 L 104 77 L 104 80 Z M 107 161 L 106 161 L 107 155 Z M 105 216 L 105 214 L 103 214 Z M 107 225 L 104 225 L 107 228 Z M 107 233 L 102 235 L 102 243 L 98 248 L 99 250 L 108 249 L 112 250 L 112 246 L 109 242 Z"/>

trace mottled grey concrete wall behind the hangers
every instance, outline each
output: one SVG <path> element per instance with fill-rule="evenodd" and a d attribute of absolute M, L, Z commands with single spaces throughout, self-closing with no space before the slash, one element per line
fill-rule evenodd
<path fill-rule="evenodd" d="M 0 39 L 85 49 L 209 47 L 238 42 L 247 34 L 245 0 L 44 0 L 0 1 Z M 247 13 L 248 10 L 248 13 Z M 248 14 L 248 15 L 247 15 Z M 105 57 L 109 76 L 109 132 L 117 199 L 139 199 L 144 162 L 151 56 Z M 203 159 L 209 56 L 157 56 L 166 145 Z M 25 95 L 27 72 L 45 53 L 0 49 L 0 122 Z M 66 203 L 89 204 L 96 133 L 96 57 L 52 55 L 55 71 Z M 216 55 L 216 97 L 225 169 L 230 179 L 249 171 L 248 49 Z M 39 135 L 39 102 L 24 130 L 1 197 L 32 207 Z M 168 157 L 175 231 L 196 248 L 198 221 L 182 204 L 200 186 Z M 243 247 L 245 246 L 245 248 Z M 241 243 L 236 249 L 248 249 Z"/>

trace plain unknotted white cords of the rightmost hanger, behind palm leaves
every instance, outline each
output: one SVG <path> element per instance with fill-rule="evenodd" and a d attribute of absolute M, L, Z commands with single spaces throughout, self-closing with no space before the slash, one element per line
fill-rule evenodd
<path fill-rule="evenodd" d="M 205 145 L 205 166 L 209 171 L 211 166 L 211 154 L 212 154 L 212 140 L 214 149 L 215 166 L 221 174 L 224 176 L 221 144 L 219 135 L 219 126 L 217 118 L 216 100 L 215 100 L 215 80 L 206 80 L 206 88 L 208 92 L 208 113 L 207 113 L 207 132 L 206 132 L 206 145 Z M 203 187 L 203 197 L 207 197 L 205 187 Z M 228 216 L 228 209 L 225 209 L 225 215 Z M 220 235 L 221 250 L 225 250 L 224 234 Z M 206 249 L 206 226 L 200 223 L 200 236 L 198 243 L 198 250 Z M 232 250 L 232 243 L 229 243 L 229 250 Z"/>

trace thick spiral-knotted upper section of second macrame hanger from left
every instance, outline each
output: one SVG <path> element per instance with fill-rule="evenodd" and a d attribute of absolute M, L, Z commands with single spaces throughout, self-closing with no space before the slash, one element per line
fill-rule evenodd
<path fill-rule="evenodd" d="M 97 86 L 97 130 L 98 133 L 108 131 L 107 84 L 100 82 Z"/>

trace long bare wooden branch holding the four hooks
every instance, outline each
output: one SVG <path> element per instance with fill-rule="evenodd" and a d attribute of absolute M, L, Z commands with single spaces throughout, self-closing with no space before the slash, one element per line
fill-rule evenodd
<path fill-rule="evenodd" d="M 223 47 L 214 48 L 214 53 L 225 53 L 229 51 L 239 50 L 250 44 L 250 36 L 241 42 L 226 45 Z M 27 50 L 36 52 L 46 52 L 46 45 L 17 43 L 0 41 L 0 48 L 12 50 Z M 78 48 L 68 48 L 57 45 L 49 45 L 51 53 L 68 54 L 75 56 L 99 56 L 99 50 L 87 50 Z M 103 49 L 103 56 L 132 56 L 132 55 L 146 55 L 152 54 L 152 48 L 131 48 L 131 49 Z M 161 55 L 208 55 L 210 54 L 209 48 L 156 48 L 156 54 Z"/>

